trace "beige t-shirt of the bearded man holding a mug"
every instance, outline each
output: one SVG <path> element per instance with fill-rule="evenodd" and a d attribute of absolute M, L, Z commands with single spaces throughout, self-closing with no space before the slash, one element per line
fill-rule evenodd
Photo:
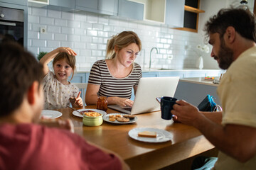
<path fill-rule="evenodd" d="M 256 47 L 243 52 L 230 65 L 217 92 L 223 107 L 223 125 L 235 124 L 256 128 Z M 241 163 L 219 152 L 214 169 L 256 169 L 256 155 L 248 162 Z"/>

